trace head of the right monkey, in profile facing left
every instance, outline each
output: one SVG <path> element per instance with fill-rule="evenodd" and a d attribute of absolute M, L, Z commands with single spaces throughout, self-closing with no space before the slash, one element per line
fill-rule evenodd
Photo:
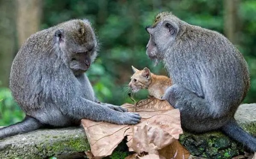
<path fill-rule="evenodd" d="M 162 12 L 156 15 L 152 26 L 145 29 L 150 35 L 146 46 L 146 54 L 151 60 L 163 59 L 167 49 L 172 47 L 179 33 L 180 20 L 172 13 Z"/>

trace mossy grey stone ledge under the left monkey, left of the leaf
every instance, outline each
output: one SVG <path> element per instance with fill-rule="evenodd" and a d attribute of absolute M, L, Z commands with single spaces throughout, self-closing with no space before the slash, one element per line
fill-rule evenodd
<path fill-rule="evenodd" d="M 0 140 L 1 159 L 79 158 L 90 150 L 84 129 L 41 129 Z"/>

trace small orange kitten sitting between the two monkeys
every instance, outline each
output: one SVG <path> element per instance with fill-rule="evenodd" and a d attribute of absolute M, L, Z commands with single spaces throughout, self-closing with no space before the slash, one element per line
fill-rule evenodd
<path fill-rule="evenodd" d="M 137 92 L 140 89 L 147 89 L 149 95 L 161 99 L 165 90 L 172 85 L 170 78 L 164 75 L 155 75 L 147 67 L 143 70 L 136 69 L 134 66 L 131 66 L 131 68 L 134 74 L 131 76 L 128 86 L 133 92 Z"/>

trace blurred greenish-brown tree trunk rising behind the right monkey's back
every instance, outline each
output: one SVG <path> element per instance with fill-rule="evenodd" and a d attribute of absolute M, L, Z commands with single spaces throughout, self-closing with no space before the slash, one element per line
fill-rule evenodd
<path fill-rule="evenodd" d="M 239 0 L 224 0 L 224 34 L 234 44 L 238 44 Z"/>

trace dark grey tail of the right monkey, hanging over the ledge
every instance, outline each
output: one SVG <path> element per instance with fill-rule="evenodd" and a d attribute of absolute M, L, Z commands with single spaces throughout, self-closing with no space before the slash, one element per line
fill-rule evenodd
<path fill-rule="evenodd" d="M 239 127 L 235 119 L 232 119 L 221 128 L 228 136 L 238 142 L 241 142 L 244 146 L 248 147 L 253 152 L 256 152 L 256 138 Z"/>

